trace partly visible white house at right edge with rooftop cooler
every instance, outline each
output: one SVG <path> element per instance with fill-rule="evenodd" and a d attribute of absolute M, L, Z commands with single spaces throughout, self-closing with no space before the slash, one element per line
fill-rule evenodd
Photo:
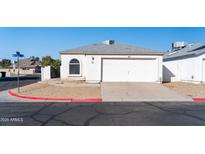
<path fill-rule="evenodd" d="M 163 81 L 205 82 L 205 44 L 173 45 L 163 57 Z"/>

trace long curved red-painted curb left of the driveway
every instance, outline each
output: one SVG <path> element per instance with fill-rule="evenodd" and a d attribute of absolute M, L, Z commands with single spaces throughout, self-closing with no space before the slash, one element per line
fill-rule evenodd
<path fill-rule="evenodd" d="M 17 93 L 8 91 L 8 94 L 13 97 L 27 99 L 27 100 L 35 100 L 35 101 L 66 101 L 66 102 L 102 102 L 101 98 L 45 98 L 45 97 L 33 97 L 33 96 L 24 96 Z"/>

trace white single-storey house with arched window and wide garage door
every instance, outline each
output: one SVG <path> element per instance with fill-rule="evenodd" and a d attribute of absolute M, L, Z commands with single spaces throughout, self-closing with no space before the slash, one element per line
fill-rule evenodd
<path fill-rule="evenodd" d="M 114 40 L 61 51 L 61 79 L 87 82 L 161 82 L 162 52 Z"/>

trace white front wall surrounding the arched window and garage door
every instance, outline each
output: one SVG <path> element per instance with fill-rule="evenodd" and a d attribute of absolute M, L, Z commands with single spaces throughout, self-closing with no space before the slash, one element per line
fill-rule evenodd
<path fill-rule="evenodd" d="M 69 62 L 71 59 L 76 58 L 80 61 L 80 75 L 69 75 Z M 158 55 L 66 55 L 61 54 L 61 78 L 68 79 L 78 77 L 78 79 L 86 79 L 88 82 L 100 82 L 102 72 L 102 59 L 103 58 L 155 58 L 156 65 L 156 81 L 162 80 L 162 56 Z M 142 66 L 143 67 L 143 66 Z"/>

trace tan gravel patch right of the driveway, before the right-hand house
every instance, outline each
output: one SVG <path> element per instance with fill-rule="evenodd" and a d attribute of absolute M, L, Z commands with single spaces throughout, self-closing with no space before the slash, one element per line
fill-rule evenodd
<path fill-rule="evenodd" d="M 163 85 L 184 96 L 198 97 L 198 98 L 205 97 L 205 84 L 172 82 L 172 83 L 164 83 Z"/>

